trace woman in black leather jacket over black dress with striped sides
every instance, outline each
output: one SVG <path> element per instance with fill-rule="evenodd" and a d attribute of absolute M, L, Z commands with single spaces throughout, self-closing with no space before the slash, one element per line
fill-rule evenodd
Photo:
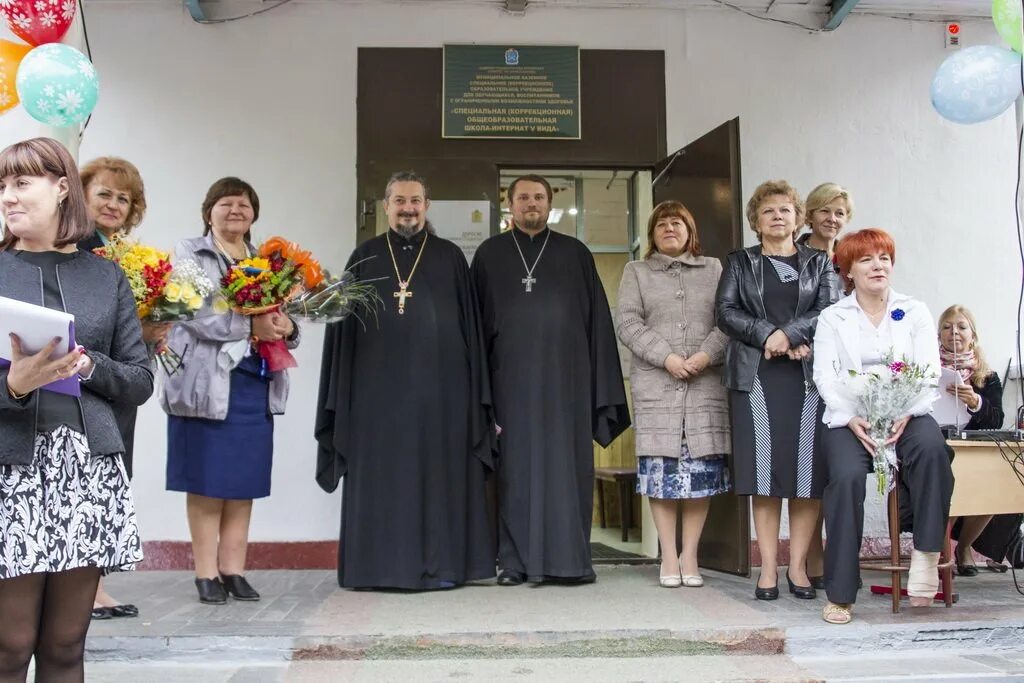
<path fill-rule="evenodd" d="M 797 245 L 804 204 L 784 180 L 762 183 L 746 204 L 760 245 L 729 254 L 717 296 L 718 327 L 729 336 L 725 386 L 732 414 L 736 493 L 751 496 L 761 551 L 755 595 L 778 597 L 778 533 L 790 500 L 790 592 L 811 599 L 807 548 L 824 487 L 817 454 L 823 404 L 810 346 L 818 312 L 838 298 L 824 252 Z"/>

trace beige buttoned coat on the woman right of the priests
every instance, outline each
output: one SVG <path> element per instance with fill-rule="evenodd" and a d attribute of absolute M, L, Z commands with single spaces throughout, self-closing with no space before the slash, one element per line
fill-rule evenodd
<path fill-rule="evenodd" d="M 618 286 L 615 333 L 632 352 L 630 384 L 637 456 L 678 458 L 685 423 L 695 458 L 728 454 L 728 394 L 719 369 L 728 342 L 715 327 L 717 258 L 652 254 L 626 265 Z M 670 353 L 705 351 L 711 365 L 677 380 L 665 369 Z"/>

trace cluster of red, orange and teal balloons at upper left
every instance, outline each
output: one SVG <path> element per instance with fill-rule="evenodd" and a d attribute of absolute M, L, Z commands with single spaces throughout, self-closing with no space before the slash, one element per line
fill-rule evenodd
<path fill-rule="evenodd" d="M 0 14 L 26 44 L 0 40 L 0 115 L 20 102 L 33 119 L 62 128 L 85 121 L 99 96 L 88 57 L 59 43 L 77 0 L 0 0 Z"/>

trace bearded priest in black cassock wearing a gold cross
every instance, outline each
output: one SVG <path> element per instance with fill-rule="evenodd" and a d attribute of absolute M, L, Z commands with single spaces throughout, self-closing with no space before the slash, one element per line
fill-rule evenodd
<path fill-rule="evenodd" d="M 316 481 L 344 477 L 338 584 L 451 588 L 495 575 L 485 475 L 495 446 L 476 295 L 462 250 L 432 233 L 423 179 L 396 173 L 390 229 L 349 268 L 384 300 L 378 321 L 328 327 Z"/>

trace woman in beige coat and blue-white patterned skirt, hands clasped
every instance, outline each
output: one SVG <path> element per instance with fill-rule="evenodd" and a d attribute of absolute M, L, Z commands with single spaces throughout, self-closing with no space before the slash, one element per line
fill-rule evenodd
<path fill-rule="evenodd" d="M 693 216 L 679 202 L 654 207 L 647 242 L 644 260 L 623 272 L 615 316 L 618 338 L 633 351 L 637 493 L 648 497 L 657 527 L 662 586 L 696 588 L 703 585 L 697 544 L 711 497 L 729 489 L 728 394 L 718 372 L 728 337 L 715 327 L 722 264 L 700 255 Z"/>

